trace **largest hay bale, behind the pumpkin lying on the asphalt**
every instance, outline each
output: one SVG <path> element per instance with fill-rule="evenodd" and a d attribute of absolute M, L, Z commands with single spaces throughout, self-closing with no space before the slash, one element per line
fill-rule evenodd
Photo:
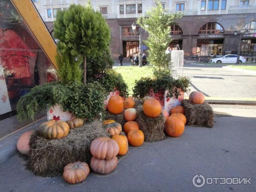
<path fill-rule="evenodd" d="M 35 175 L 49 177 L 61 174 L 68 163 L 80 160 L 89 164 L 90 143 L 98 137 L 109 137 L 98 120 L 70 129 L 61 139 L 48 140 L 36 132 L 30 140 L 31 155 L 27 165 Z"/>

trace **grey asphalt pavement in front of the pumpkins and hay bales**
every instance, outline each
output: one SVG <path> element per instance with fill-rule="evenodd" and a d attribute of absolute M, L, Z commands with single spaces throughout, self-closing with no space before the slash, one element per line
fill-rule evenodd
<path fill-rule="evenodd" d="M 38 177 L 15 154 L 0 164 L 2 192 L 156 192 L 256 191 L 256 118 L 216 116 L 213 128 L 186 127 L 178 138 L 130 147 L 109 175 L 90 173 L 70 185 L 59 177 Z M 251 177 L 252 184 L 205 184 L 192 177 Z"/>

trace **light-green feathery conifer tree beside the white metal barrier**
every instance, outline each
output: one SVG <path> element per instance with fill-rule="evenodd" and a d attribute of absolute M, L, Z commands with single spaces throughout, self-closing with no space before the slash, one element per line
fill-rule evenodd
<path fill-rule="evenodd" d="M 169 14 L 165 12 L 159 0 L 157 6 L 146 12 L 145 17 L 139 17 L 137 23 L 148 32 L 148 39 L 144 43 L 148 47 L 148 61 L 156 70 L 169 68 L 169 55 L 165 51 L 172 41 L 171 25 L 182 17 L 181 13 Z"/>

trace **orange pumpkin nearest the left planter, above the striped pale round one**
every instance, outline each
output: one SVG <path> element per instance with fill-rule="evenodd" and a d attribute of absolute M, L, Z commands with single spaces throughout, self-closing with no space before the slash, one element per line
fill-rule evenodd
<path fill-rule="evenodd" d="M 124 110 L 124 103 L 122 97 L 115 95 L 112 96 L 108 101 L 108 111 L 113 114 L 122 113 Z"/>

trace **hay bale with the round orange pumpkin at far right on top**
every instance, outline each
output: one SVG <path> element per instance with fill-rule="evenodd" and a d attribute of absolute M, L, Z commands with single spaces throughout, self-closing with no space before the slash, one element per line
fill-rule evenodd
<path fill-rule="evenodd" d="M 203 104 L 192 104 L 188 99 L 185 99 L 183 101 L 183 107 L 187 125 L 213 127 L 214 114 L 212 107 L 207 102 Z"/>

